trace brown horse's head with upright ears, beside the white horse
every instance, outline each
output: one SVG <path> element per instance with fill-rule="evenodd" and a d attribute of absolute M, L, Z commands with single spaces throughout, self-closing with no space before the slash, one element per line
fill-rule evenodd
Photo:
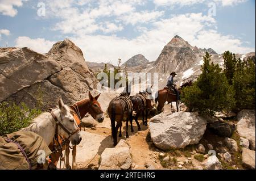
<path fill-rule="evenodd" d="M 99 123 L 102 123 L 104 120 L 104 114 L 103 111 L 101 110 L 101 105 L 97 101 L 98 97 L 101 94 L 98 94 L 97 96 L 93 97 L 92 94 L 89 92 L 89 113 L 92 115 L 94 119 L 96 119 Z"/>

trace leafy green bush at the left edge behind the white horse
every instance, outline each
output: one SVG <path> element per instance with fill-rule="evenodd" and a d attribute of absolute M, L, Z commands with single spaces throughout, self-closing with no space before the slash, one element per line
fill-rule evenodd
<path fill-rule="evenodd" d="M 0 103 L 0 135 L 27 127 L 31 120 L 41 112 L 38 109 L 29 109 L 24 103 L 21 103 L 20 106 L 11 102 Z"/>

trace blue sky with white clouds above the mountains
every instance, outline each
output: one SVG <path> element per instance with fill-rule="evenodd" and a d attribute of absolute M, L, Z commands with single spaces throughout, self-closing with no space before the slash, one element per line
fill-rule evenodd
<path fill-rule="evenodd" d="M 0 0 L 0 47 L 47 53 L 70 39 L 86 61 L 155 61 L 172 37 L 217 53 L 255 52 L 255 0 Z"/>

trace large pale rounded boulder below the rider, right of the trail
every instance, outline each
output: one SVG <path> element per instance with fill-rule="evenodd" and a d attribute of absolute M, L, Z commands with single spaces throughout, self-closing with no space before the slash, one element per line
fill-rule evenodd
<path fill-rule="evenodd" d="M 205 132 L 207 121 L 195 112 L 162 112 L 150 119 L 149 131 L 154 144 L 163 150 L 197 144 Z"/>

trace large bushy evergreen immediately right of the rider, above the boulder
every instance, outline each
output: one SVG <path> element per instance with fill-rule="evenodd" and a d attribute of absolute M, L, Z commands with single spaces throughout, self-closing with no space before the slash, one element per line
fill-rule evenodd
<path fill-rule="evenodd" d="M 202 73 L 192 86 L 185 87 L 181 100 L 194 111 L 210 113 L 232 110 L 235 104 L 233 87 L 217 64 L 210 64 L 210 55 L 204 56 Z"/>

